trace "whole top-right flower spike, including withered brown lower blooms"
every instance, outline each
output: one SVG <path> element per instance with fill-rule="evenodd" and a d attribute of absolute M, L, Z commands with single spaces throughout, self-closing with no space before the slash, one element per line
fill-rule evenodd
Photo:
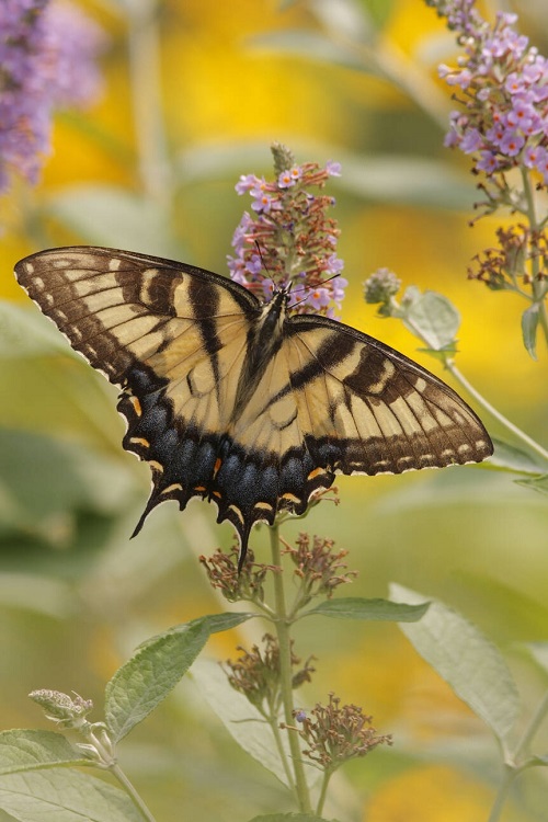
<path fill-rule="evenodd" d="M 536 195 L 548 187 L 548 60 L 516 31 L 516 14 L 499 12 L 490 23 L 475 0 L 426 4 L 457 32 L 464 49 L 457 66 L 439 67 L 461 103 L 450 114 L 445 145 L 470 156 L 473 172 L 482 175 L 479 187 L 487 199 L 478 204 L 480 216 L 504 207 L 524 217 L 510 231 L 498 231 L 499 248 L 478 254 L 469 276 L 530 302 L 522 331 L 534 356 L 538 328 L 548 341 L 548 213 Z"/>

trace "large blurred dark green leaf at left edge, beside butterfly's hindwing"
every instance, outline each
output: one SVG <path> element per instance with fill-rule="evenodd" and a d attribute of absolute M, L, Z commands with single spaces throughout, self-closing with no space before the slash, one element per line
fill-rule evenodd
<path fill-rule="evenodd" d="M 0 429 L 0 545 L 10 569 L 28 572 L 34 541 L 36 571 L 44 563 L 70 571 L 84 561 L 84 544 L 98 547 L 109 534 L 113 515 L 127 503 L 134 478 L 122 461 L 99 456 L 82 444 L 30 431 Z M 78 555 L 44 552 L 44 545 Z M 39 547 L 38 547 L 39 546 Z M 34 559 L 34 558 L 33 558 Z M 90 557 L 91 560 L 91 557 Z M 4 567 L 7 567 L 4 564 Z"/>

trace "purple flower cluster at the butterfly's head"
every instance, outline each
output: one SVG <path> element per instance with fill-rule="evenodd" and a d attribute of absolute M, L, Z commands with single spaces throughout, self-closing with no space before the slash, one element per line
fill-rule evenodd
<path fill-rule="evenodd" d="M 266 300 L 276 287 L 287 288 L 293 311 L 333 318 L 347 285 L 335 252 L 339 230 L 326 215 L 334 201 L 310 189 L 340 173 L 340 163 L 329 162 L 323 169 L 293 163 L 273 182 L 242 175 L 236 191 L 251 195 L 254 214 L 246 212 L 235 231 L 236 254 L 227 258 L 232 279 Z"/>

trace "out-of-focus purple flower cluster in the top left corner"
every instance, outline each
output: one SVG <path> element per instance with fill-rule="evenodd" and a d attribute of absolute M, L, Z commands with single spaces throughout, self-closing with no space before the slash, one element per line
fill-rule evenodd
<path fill-rule="evenodd" d="M 0 192 L 16 169 L 35 183 L 50 150 L 54 109 L 89 104 L 101 81 L 104 35 L 77 8 L 54 0 L 0 2 Z"/>

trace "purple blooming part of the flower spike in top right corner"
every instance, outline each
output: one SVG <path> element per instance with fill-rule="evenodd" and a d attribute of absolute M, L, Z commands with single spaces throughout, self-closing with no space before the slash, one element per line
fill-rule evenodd
<path fill-rule="evenodd" d="M 466 56 L 439 76 L 458 87 L 465 111 L 452 112 L 445 145 L 475 158 L 488 175 L 517 165 L 548 184 L 548 60 L 513 27 L 517 15 L 500 12 L 493 25 L 475 0 L 427 0 L 459 32 Z"/>

